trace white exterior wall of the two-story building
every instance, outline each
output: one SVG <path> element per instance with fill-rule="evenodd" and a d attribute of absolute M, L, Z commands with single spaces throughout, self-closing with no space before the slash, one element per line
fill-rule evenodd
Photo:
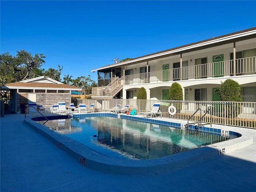
<path fill-rule="evenodd" d="M 232 79 L 238 82 L 241 87 L 256 87 L 256 38 L 254 36 L 248 36 L 248 38 L 238 38 L 230 41 L 211 44 L 209 46 L 204 46 L 205 48 L 191 48 L 186 51 L 180 51 L 177 49 L 176 53 L 172 53 L 173 55 L 166 55 L 166 56 L 159 56 L 158 58 L 155 58 L 154 60 L 148 59 L 147 62 L 143 60 L 143 62 L 136 63 L 136 64 L 128 64 L 127 66 L 119 66 L 121 67 L 121 74 L 124 75 L 125 70 L 133 69 L 133 75 L 125 76 L 124 77 L 124 84 L 123 84 L 123 90 L 122 95 L 123 99 L 126 99 L 126 91 L 134 91 L 133 98 L 136 99 L 138 89 L 141 87 L 144 87 L 147 92 L 147 99 L 148 100 L 162 100 L 163 94 L 162 90 L 169 89 L 172 83 L 177 82 L 179 83 L 183 91 L 184 89 L 188 89 L 188 100 L 195 100 L 195 89 L 207 89 L 207 101 L 212 101 L 212 88 L 218 88 L 220 87 L 221 83 L 224 82 L 227 79 Z M 237 40 L 237 42 L 236 42 Z M 254 52 L 244 52 L 246 50 L 252 50 L 254 49 Z M 188 51 L 188 52 L 187 52 Z M 182 54 L 180 54 L 182 52 Z M 236 65 L 236 76 L 233 76 L 232 70 L 234 70 L 235 65 L 233 66 L 233 60 L 230 61 L 230 54 L 234 52 L 243 52 L 242 58 L 248 58 L 250 59 L 244 59 L 244 60 L 237 60 Z M 245 54 L 247 53 L 247 54 Z M 222 76 L 215 74 L 215 68 L 218 67 L 218 65 L 213 64 L 213 56 L 216 56 L 218 54 L 223 54 L 223 68 L 222 68 Z M 250 55 L 251 54 L 251 55 Z M 156 54 L 157 55 L 157 54 Z M 247 55 L 247 56 L 246 56 Z M 181 69 L 173 70 L 173 64 L 180 62 L 182 58 L 182 61 L 188 61 L 188 68 L 185 70 Z M 207 66 L 206 70 L 201 74 L 202 72 L 202 66 L 196 67 L 196 59 L 198 58 L 207 58 Z M 220 61 L 222 62 L 222 61 Z M 150 76 L 149 83 L 144 83 L 146 79 L 146 75 L 140 74 L 140 67 L 150 67 Z M 166 78 L 166 81 L 164 79 L 164 72 L 163 71 L 163 65 L 169 64 L 169 72 L 166 75 L 168 78 Z M 240 66 L 240 72 L 238 72 L 239 65 Z M 106 70 L 110 70 L 110 68 Z M 136 69 L 136 70 L 135 70 Z M 232 69 L 232 70 L 231 70 Z M 178 76 L 183 76 L 183 78 L 186 78 L 186 74 L 180 75 L 180 72 L 186 73 L 187 80 L 178 80 L 178 78 L 174 78 L 174 75 L 178 74 Z M 199 73 L 199 74 L 197 74 Z M 138 75 L 137 75 L 138 74 Z M 215 76 L 215 77 L 214 77 Z M 176 80 L 176 81 L 175 81 Z M 126 83 L 128 82 L 128 83 Z M 137 92 L 135 92 L 135 90 Z M 92 97 L 94 98 L 94 97 Z"/>

